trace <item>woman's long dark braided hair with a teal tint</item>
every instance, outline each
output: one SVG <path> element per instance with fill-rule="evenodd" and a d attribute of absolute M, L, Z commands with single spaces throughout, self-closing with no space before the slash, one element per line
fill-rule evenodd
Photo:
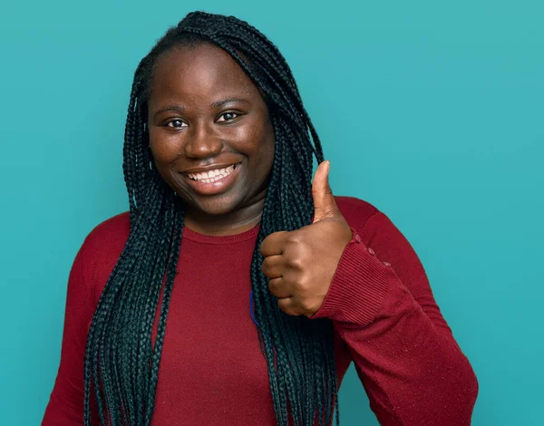
<path fill-rule="evenodd" d="M 257 335 L 267 359 L 277 424 L 339 423 L 338 379 L 329 320 L 284 314 L 261 271 L 265 237 L 311 223 L 313 157 L 321 142 L 277 47 L 232 16 L 187 15 L 141 60 L 131 89 L 125 127 L 123 173 L 129 193 L 131 233 L 92 318 L 84 368 L 84 421 L 91 424 L 92 391 L 103 425 L 149 425 L 160 354 L 183 230 L 183 206 L 154 168 L 146 128 L 154 64 L 180 45 L 210 43 L 239 64 L 263 93 L 275 133 L 275 158 L 253 252 L 250 277 Z M 183 267 L 183 266 L 181 266 Z M 152 329 L 160 305 L 155 343 Z"/>

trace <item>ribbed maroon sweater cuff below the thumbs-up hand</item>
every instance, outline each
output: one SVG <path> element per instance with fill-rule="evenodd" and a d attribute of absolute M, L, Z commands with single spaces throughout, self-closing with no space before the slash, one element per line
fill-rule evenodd
<path fill-rule="evenodd" d="M 380 262 L 372 248 L 364 247 L 354 231 L 323 305 L 310 318 L 329 318 L 359 326 L 370 324 L 383 305 L 388 281 L 393 277 L 391 266 Z"/>

